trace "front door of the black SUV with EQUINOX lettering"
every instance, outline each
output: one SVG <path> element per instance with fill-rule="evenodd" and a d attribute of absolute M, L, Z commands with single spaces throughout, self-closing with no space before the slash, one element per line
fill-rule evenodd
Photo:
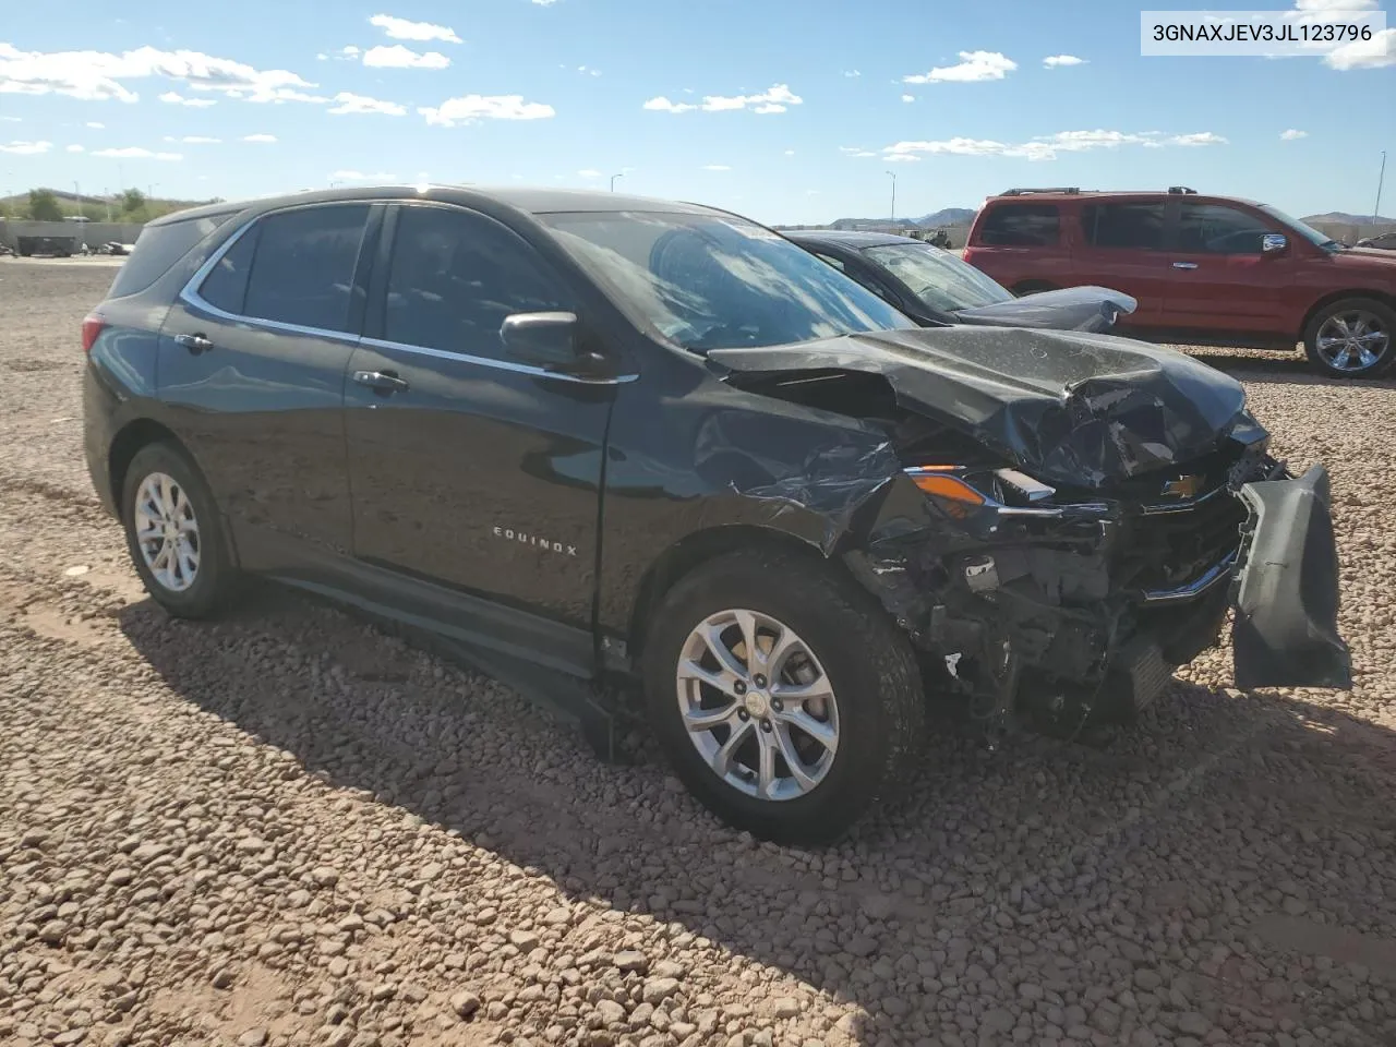
<path fill-rule="evenodd" d="M 512 362 L 500 338 L 572 295 L 512 230 L 440 204 L 389 214 L 373 285 L 345 385 L 356 556 L 459 596 L 452 620 L 493 634 L 472 639 L 557 632 L 560 662 L 588 659 L 614 385 Z"/>

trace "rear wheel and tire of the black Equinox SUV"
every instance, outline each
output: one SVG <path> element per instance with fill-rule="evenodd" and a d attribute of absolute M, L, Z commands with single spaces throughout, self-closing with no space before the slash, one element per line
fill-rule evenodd
<path fill-rule="evenodd" d="M 121 484 L 121 522 L 145 591 L 170 614 L 207 618 L 236 585 L 222 518 L 198 468 L 169 444 L 137 451 Z"/>

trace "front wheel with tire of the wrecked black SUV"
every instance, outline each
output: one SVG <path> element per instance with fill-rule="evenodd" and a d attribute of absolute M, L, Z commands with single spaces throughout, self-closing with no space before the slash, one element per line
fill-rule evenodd
<path fill-rule="evenodd" d="M 826 565 L 733 553 L 664 596 L 644 649 L 655 734 L 729 825 L 824 845 L 900 789 L 926 708 L 907 638 Z"/>

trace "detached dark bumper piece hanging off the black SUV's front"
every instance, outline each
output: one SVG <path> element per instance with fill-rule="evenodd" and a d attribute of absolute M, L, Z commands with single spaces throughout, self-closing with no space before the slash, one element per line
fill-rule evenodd
<path fill-rule="evenodd" d="M 1234 584 L 1233 671 L 1241 690 L 1353 685 L 1337 634 L 1337 549 L 1328 470 L 1241 487 L 1249 510 Z"/>

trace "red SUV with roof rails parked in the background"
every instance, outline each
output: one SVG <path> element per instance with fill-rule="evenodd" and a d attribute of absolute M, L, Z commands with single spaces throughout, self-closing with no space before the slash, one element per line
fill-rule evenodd
<path fill-rule="evenodd" d="M 1396 255 L 1344 247 L 1268 204 L 1166 193 L 1011 188 L 990 197 L 965 261 L 1018 293 L 1093 283 L 1139 300 L 1120 334 L 1293 350 L 1336 377 L 1396 356 Z"/>

